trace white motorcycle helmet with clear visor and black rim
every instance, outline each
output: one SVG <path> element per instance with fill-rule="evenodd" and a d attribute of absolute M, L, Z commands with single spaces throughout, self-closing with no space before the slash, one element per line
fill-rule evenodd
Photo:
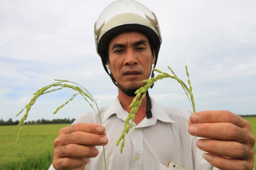
<path fill-rule="evenodd" d="M 155 50 L 154 66 L 162 43 L 158 21 L 152 11 L 133 0 L 118 0 L 110 4 L 96 21 L 94 34 L 97 53 L 114 84 L 115 80 L 107 68 L 108 43 L 114 35 L 127 31 L 139 31 L 147 35 Z"/>

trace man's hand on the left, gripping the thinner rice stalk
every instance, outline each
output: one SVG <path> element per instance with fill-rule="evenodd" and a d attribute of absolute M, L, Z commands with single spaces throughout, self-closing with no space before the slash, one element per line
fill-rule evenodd
<path fill-rule="evenodd" d="M 108 143 L 105 128 L 98 124 L 78 123 L 64 127 L 54 141 L 52 165 L 56 170 L 85 167 L 99 154 L 96 145 Z"/>

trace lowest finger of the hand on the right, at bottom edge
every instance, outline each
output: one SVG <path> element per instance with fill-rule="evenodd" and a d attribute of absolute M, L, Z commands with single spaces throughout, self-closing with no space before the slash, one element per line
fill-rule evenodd
<path fill-rule="evenodd" d="M 254 166 L 252 160 L 239 160 L 234 158 L 225 158 L 224 156 L 214 154 L 203 154 L 203 158 L 212 166 L 222 170 L 252 170 Z"/>

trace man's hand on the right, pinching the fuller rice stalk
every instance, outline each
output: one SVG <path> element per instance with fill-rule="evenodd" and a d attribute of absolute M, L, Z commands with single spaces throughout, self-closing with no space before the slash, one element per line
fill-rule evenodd
<path fill-rule="evenodd" d="M 203 137 L 197 147 L 208 154 L 203 157 L 222 170 L 252 170 L 254 167 L 250 123 L 230 111 L 200 111 L 190 116 L 190 135 Z"/>

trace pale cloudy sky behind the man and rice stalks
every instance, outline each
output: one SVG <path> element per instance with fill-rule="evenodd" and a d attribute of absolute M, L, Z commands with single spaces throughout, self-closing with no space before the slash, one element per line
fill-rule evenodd
<path fill-rule="evenodd" d="M 94 23 L 113 0 L 0 0 L 0 119 L 15 117 L 38 89 L 54 79 L 84 86 L 99 107 L 111 104 L 117 88 L 106 74 L 94 43 Z M 156 68 L 184 82 L 188 66 L 196 110 L 226 109 L 256 114 L 256 1 L 138 0 L 160 25 L 162 45 Z M 42 95 L 27 121 L 76 118 L 91 111 L 74 94 Z M 175 80 L 149 90 L 158 104 L 191 109 Z"/>

